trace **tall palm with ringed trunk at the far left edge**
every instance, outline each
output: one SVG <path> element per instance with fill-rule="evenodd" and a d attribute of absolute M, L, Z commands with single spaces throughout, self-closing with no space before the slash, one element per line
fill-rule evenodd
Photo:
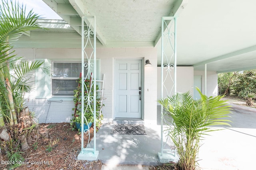
<path fill-rule="evenodd" d="M 0 126 L 4 126 L 5 116 L 7 121 L 12 124 L 17 123 L 16 111 L 13 98 L 13 92 L 15 87 L 10 82 L 10 59 L 13 59 L 16 54 L 11 51 L 13 48 L 12 43 L 22 35 L 25 31 L 32 29 L 42 29 L 42 26 L 36 23 L 36 20 L 40 18 L 38 14 L 34 14 L 32 10 L 26 14 L 26 6 L 23 6 L 12 1 L 2 0 L 0 5 L 0 94 L 4 96 L 0 102 Z M 28 65 L 27 65 L 28 66 Z M 23 71 L 23 70 L 22 70 Z M 4 108 L 4 109 L 3 109 Z M 8 108 L 6 111 L 6 108 Z M 9 113 L 9 115 L 8 115 Z"/>

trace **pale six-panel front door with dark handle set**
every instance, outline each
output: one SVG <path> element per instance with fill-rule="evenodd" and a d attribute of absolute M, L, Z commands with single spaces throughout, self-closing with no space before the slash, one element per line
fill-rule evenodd
<path fill-rule="evenodd" d="M 141 118 L 142 60 L 116 60 L 115 118 Z"/>

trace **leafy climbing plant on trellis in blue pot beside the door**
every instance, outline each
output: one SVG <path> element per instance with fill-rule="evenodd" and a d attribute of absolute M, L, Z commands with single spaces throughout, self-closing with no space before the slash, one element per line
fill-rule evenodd
<path fill-rule="evenodd" d="M 71 119 L 70 125 L 72 127 L 72 130 L 74 129 L 78 129 L 78 131 L 80 132 L 82 129 L 82 78 L 81 78 L 81 73 L 80 73 L 80 78 L 78 78 L 78 80 L 76 80 L 76 82 L 78 82 L 78 86 L 76 88 L 76 90 L 74 90 L 74 104 L 75 107 L 72 109 L 74 111 L 74 113 L 72 114 L 73 118 Z M 86 79 L 84 81 L 84 96 L 93 96 L 94 90 L 93 88 L 91 90 L 90 86 L 91 86 L 91 79 Z M 90 92 L 88 92 L 90 91 Z M 98 90 L 98 85 L 96 85 L 96 90 Z M 100 103 L 100 97 L 98 96 L 98 94 L 96 93 L 96 127 L 99 127 L 101 124 L 101 120 L 103 119 L 103 115 L 100 114 L 100 108 L 104 106 Z M 92 123 L 94 121 L 94 115 L 93 115 L 93 109 L 94 109 L 94 103 L 93 102 L 89 102 L 88 101 L 84 101 L 84 130 L 88 130 L 90 129 L 90 127 L 92 126 Z"/>

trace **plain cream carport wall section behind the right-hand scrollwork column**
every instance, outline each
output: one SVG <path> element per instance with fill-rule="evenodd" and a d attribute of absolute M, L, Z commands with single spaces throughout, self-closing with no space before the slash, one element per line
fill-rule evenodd
<path fill-rule="evenodd" d="M 172 78 L 174 79 L 174 71 L 172 72 Z M 167 72 L 163 72 L 164 77 Z M 161 98 L 161 67 L 157 67 L 157 98 Z M 167 82 L 166 84 L 170 84 L 170 88 L 172 87 L 172 82 Z M 193 67 L 192 66 L 177 66 L 177 92 L 188 92 L 193 91 Z M 163 90 L 164 98 L 167 96 L 166 91 Z M 160 105 L 160 104 L 158 104 Z"/>

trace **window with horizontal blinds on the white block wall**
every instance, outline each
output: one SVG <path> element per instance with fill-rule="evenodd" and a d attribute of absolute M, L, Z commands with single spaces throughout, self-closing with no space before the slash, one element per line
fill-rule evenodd
<path fill-rule="evenodd" d="M 52 95 L 69 96 L 74 95 L 74 90 L 78 86 L 76 80 L 80 76 L 82 68 L 81 62 L 53 61 L 52 62 Z M 84 74 L 87 69 L 84 68 Z"/>

